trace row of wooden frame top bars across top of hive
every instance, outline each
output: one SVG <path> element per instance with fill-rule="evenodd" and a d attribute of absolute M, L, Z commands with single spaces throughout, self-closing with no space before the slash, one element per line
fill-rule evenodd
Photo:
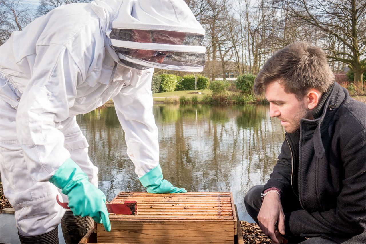
<path fill-rule="evenodd" d="M 111 203 L 136 200 L 138 215 L 109 215 L 111 221 L 135 219 L 149 221 L 236 221 L 231 192 L 186 192 L 153 194 L 147 192 L 120 192 Z"/>

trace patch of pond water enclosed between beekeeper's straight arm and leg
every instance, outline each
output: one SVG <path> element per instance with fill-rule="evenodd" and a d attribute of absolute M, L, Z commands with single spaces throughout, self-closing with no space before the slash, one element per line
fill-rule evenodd
<path fill-rule="evenodd" d="M 98 167 L 99 188 L 107 200 L 120 191 L 143 191 L 126 154 L 124 132 L 114 107 L 103 107 L 76 117 L 89 143 L 89 156 Z"/>

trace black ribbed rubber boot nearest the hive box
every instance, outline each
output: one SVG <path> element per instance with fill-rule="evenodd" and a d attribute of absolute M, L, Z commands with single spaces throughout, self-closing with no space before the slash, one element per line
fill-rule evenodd
<path fill-rule="evenodd" d="M 61 219 L 61 229 L 67 244 L 79 243 L 93 227 L 94 220 L 91 217 L 74 216 L 72 211 L 66 211 Z"/>

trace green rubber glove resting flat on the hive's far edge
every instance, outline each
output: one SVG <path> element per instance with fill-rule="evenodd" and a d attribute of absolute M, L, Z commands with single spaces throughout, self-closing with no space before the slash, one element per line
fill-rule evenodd
<path fill-rule="evenodd" d="M 150 193 L 180 193 L 187 192 L 184 188 L 174 187 L 169 181 L 163 180 L 160 164 L 139 178 L 141 184 Z"/>

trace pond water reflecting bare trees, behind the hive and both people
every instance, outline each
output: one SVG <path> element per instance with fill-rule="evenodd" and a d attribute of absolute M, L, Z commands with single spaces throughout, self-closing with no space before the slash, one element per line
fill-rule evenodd
<path fill-rule="evenodd" d="M 232 192 L 239 219 L 254 222 L 244 196 L 268 180 L 284 140 L 269 106 L 154 105 L 153 113 L 164 178 L 190 192 Z M 126 154 L 114 107 L 78 115 L 77 121 L 107 200 L 121 191 L 145 191 Z"/>

